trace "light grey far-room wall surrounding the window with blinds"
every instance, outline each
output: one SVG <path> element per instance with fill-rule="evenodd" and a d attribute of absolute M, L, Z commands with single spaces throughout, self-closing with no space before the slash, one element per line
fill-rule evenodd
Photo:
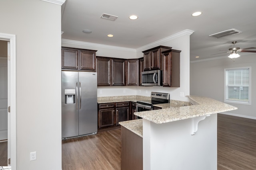
<path fill-rule="evenodd" d="M 224 102 L 224 68 L 252 67 L 252 105 L 233 104 L 237 110 L 229 111 L 242 117 L 256 119 L 256 54 L 244 55 L 235 61 L 228 57 L 210 61 L 190 63 L 190 94 L 206 96 Z"/>

